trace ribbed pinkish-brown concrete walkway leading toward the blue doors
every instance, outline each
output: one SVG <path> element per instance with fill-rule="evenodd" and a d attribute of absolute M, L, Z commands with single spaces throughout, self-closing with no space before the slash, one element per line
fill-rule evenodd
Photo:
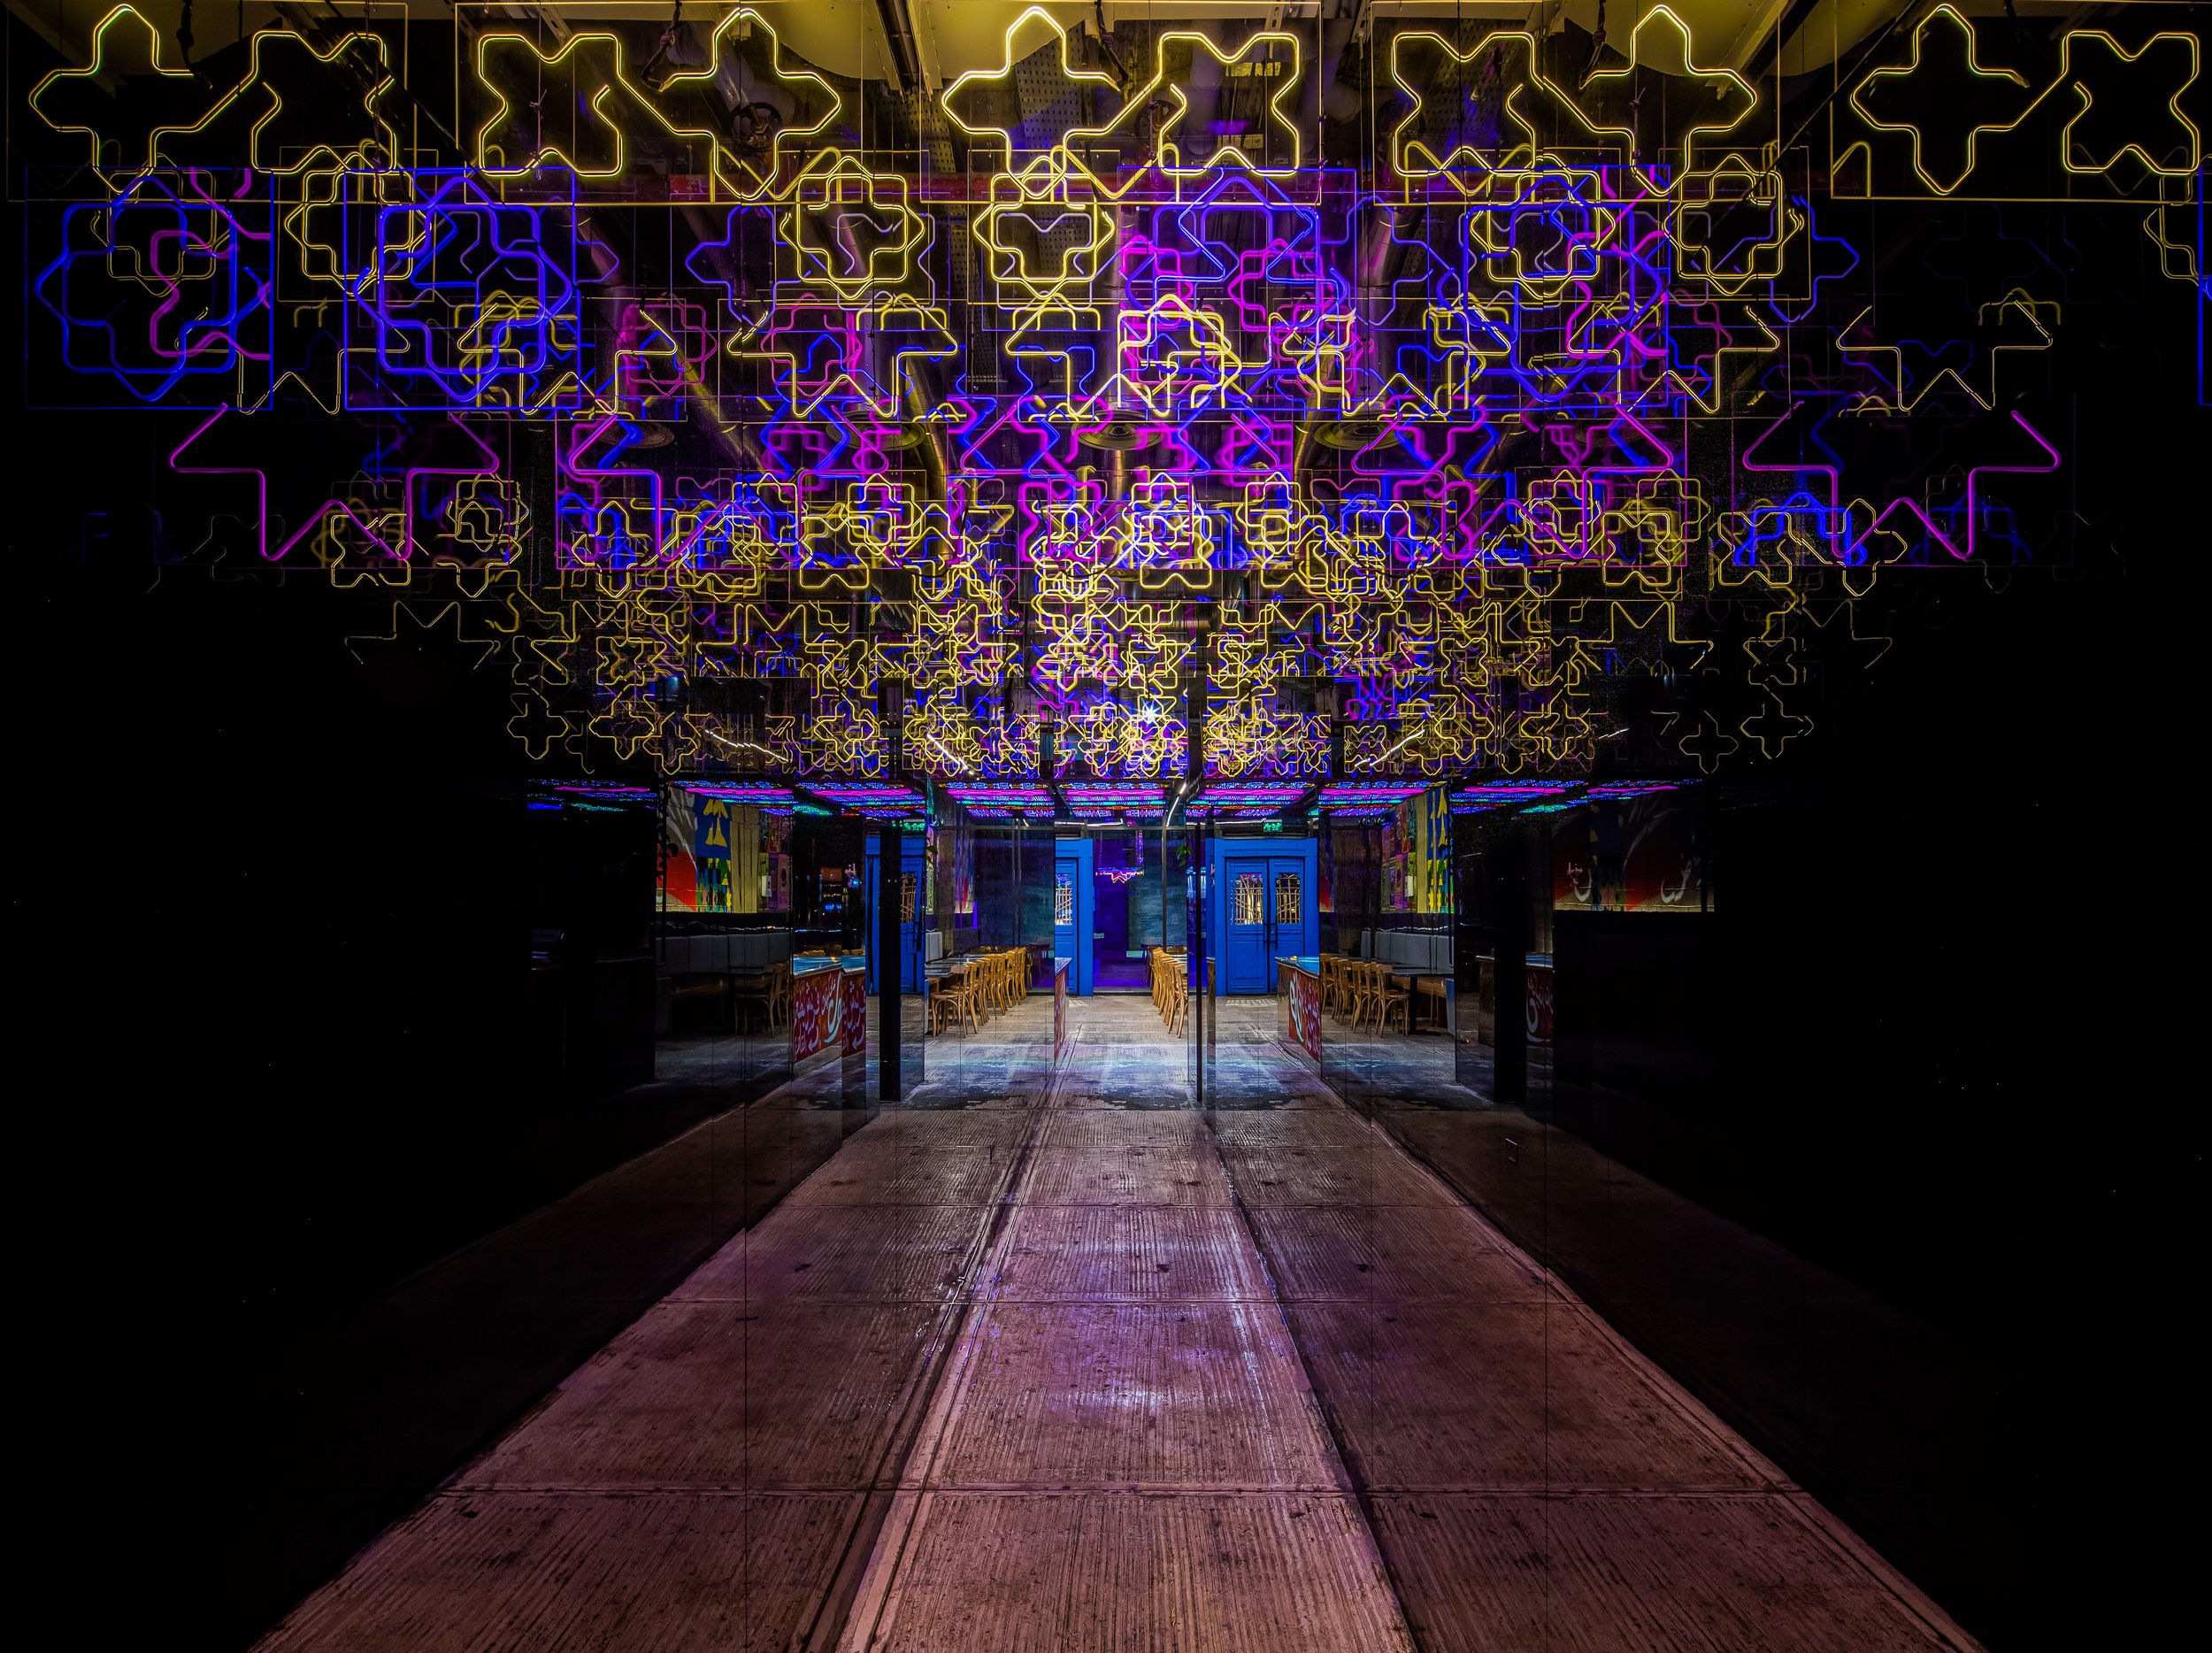
<path fill-rule="evenodd" d="M 265 1649 L 1966 1649 L 1223 1005 L 929 1084 Z M 805 1084 L 805 1082 L 801 1082 Z"/>

